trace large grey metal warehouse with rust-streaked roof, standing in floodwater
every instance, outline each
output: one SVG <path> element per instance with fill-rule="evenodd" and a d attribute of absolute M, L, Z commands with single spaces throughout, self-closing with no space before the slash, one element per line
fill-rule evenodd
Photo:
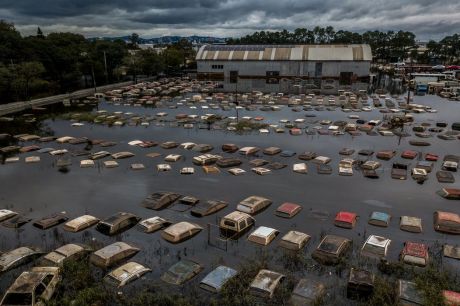
<path fill-rule="evenodd" d="M 367 89 L 369 45 L 205 45 L 197 78 L 223 91 L 321 92 Z"/>

